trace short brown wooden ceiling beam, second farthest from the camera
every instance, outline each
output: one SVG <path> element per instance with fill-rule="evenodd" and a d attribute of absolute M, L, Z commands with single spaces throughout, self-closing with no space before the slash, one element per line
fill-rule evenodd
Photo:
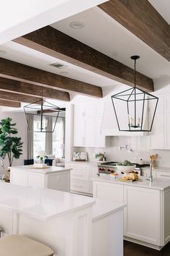
<path fill-rule="evenodd" d="M 4 90 L 0 90 L 0 99 L 8 101 L 19 101 L 25 103 L 34 103 L 35 101 L 40 101 L 41 98 L 32 97 L 29 95 L 21 95 L 18 93 L 10 93 Z"/>

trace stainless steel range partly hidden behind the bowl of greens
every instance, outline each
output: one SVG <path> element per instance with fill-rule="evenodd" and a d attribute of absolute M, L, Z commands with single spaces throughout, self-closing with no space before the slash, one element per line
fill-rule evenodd
<path fill-rule="evenodd" d="M 111 174 L 112 172 L 117 172 L 117 165 L 118 162 L 105 162 L 105 163 L 100 163 L 98 165 L 98 174 Z M 142 168 L 150 166 L 149 164 L 138 164 L 134 163 L 136 168 L 135 171 L 137 172 L 138 175 L 142 175 Z"/>

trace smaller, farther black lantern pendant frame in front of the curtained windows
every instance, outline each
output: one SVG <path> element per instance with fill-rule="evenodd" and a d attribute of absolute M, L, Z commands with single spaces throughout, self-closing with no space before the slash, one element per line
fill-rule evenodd
<path fill-rule="evenodd" d="M 37 106 L 40 106 L 40 107 L 38 108 Z M 43 107 L 48 107 L 48 109 L 47 108 L 43 109 Z M 28 111 L 28 109 L 40 111 L 40 114 L 37 114 L 37 113 L 35 114 L 33 111 Z M 51 115 L 53 118 L 55 118 L 55 124 L 54 124 L 53 129 L 51 131 L 46 131 L 42 127 L 43 116 L 50 116 L 48 114 L 46 114 L 46 115 L 43 114 L 43 112 L 47 111 L 47 110 L 50 110 L 50 111 L 54 110 L 57 113 L 57 115 L 55 115 L 55 116 Z M 30 114 L 30 115 L 33 115 L 33 116 L 40 116 L 40 131 L 34 131 L 34 132 L 54 132 L 55 126 L 56 126 L 56 123 L 57 123 L 57 120 L 58 120 L 58 117 L 59 117 L 59 114 L 60 114 L 60 111 L 61 111 L 61 108 L 59 108 L 58 106 L 55 106 L 53 103 L 49 103 L 48 101 L 43 100 L 43 98 L 41 98 L 39 101 L 35 101 L 33 103 L 30 103 L 30 104 L 24 106 L 24 114 L 26 116 L 27 126 L 28 126 L 29 132 L 30 132 L 30 127 L 29 127 L 29 122 L 28 122 L 28 119 L 27 119 L 27 115 Z"/>

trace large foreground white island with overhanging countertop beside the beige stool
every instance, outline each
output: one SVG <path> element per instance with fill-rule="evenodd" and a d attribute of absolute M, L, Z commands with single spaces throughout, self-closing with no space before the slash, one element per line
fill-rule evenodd
<path fill-rule="evenodd" d="M 123 256 L 124 204 L 4 182 L 0 193 L 2 236 L 28 236 L 57 256 Z"/>

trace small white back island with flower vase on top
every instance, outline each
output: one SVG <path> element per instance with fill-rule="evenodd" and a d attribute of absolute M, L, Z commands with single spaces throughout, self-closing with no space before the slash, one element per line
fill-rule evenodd
<path fill-rule="evenodd" d="M 47 168 L 12 166 L 10 167 L 10 183 L 69 192 L 70 171 L 71 168 L 57 166 L 47 166 Z"/>

